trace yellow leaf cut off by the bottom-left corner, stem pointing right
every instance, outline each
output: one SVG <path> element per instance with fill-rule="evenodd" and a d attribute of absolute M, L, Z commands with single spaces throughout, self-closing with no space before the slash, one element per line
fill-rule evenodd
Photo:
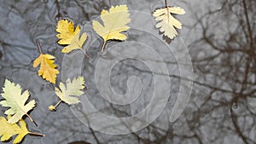
<path fill-rule="evenodd" d="M 9 117 L 10 118 L 10 117 Z M 42 134 L 32 133 L 27 130 L 26 122 L 20 119 L 20 126 L 18 124 L 9 124 L 8 121 L 0 117 L 0 137 L 1 141 L 9 141 L 13 135 L 17 135 L 14 141 L 15 143 L 20 143 L 26 135 L 38 135 L 44 136 Z"/>

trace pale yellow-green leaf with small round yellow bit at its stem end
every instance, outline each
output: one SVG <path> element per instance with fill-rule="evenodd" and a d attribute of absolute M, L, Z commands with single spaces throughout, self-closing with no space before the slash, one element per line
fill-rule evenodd
<path fill-rule="evenodd" d="M 55 88 L 55 94 L 61 99 L 55 106 L 49 106 L 49 111 L 54 111 L 56 107 L 63 101 L 68 105 L 73 105 L 79 103 L 79 99 L 75 96 L 81 96 L 84 94 L 84 77 L 74 78 L 71 81 L 67 79 L 66 86 L 61 83 L 59 85 L 60 89 Z"/>

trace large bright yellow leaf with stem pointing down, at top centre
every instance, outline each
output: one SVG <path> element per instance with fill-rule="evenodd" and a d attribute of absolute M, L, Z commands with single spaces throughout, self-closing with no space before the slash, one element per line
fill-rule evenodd
<path fill-rule="evenodd" d="M 101 19 L 103 25 L 96 20 L 92 21 L 93 29 L 104 40 L 102 52 L 108 40 L 115 39 L 124 41 L 127 38 L 125 34 L 120 32 L 125 32 L 130 29 L 130 27 L 127 26 L 127 24 L 131 21 L 129 16 L 130 14 L 128 7 L 126 5 L 119 5 L 116 7 L 112 6 L 109 11 L 102 10 Z"/>

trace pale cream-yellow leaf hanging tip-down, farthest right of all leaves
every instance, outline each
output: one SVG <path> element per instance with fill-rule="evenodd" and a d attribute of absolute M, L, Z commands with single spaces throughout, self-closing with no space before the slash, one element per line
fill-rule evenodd
<path fill-rule="evenodd" d="M 164 35 L 173 39 L 177 36 L 177 29 L 182 29 L 182 23 L 176 20 L 172 14 L 185 14 L 184 9 L 179 7 L 167 7 L 164 9 L 157 9 L 154 11 L 154 17 L 156 21 L 160 21 L 156 24 L 156 28 L 160 28 L 160 32 L 164 32 Z"/>

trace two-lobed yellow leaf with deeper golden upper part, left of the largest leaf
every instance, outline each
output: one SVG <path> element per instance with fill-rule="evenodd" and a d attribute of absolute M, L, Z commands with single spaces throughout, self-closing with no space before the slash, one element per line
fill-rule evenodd
<path fill-rule="evenodd" d="M 58 41 L 61 45 L 67 45 L 62 49 L 62 53 L 70 53 L 74 49 L 82 49 L 85 40 L 87 39 L 86 33 L 80 36 L 80 27 L 73 28 L 73 21 L 59 20 L 56 26 Z"/>

